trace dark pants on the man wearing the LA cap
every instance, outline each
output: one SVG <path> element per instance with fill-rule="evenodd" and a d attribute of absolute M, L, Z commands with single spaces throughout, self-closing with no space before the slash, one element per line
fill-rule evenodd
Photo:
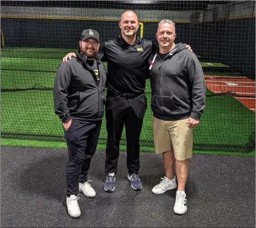
<path fill-rule="evenodd" d="M 96 152 L 102 120 L 78 123 L 72 120 L 65 138 L 68 146 L 67 195 L 77 195 L 79 183 L 87 181 L 91 158 Z"/>

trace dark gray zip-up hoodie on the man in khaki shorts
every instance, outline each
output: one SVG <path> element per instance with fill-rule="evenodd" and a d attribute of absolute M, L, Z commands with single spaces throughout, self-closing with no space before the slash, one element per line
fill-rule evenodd
<path fill-rule="evenodd" d="M 175 44 L 162 60 L 159 49 L 150 70 L 151 109 L 160 120 L 200 120 L 205 106 L 206 83 L 197 56 Z M 149 59 L 149 65 L 155 53 Z"/>

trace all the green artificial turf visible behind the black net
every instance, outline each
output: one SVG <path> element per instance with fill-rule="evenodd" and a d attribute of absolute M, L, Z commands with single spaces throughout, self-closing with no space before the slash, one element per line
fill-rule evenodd
<path fill-rule="evenodd" d="M 1 92 L 2 137 L 64 141 L 61 122 L 53 110 L 52 90 L 34 89 L 53 88 L 56 69 L 68 52 L 74 50 L 5 48 L 1 59 L 1 88 L 33 90 Z M 47 54 L 57 59 L 47 59 Z M 230 72 L 208 72 L 208 75 L 224 76 L 230 75 Z M 208 150 L 209 153 L 216 150 L 225 150 L 226 153 L 254 150 L 255 114 L 233 97 L 211 95 L 207 91 L 200 126 L 194 129 L 194 149 Z M 150 81 L 146 82 L 146 96 L 148 108 L 140 140 L 144 149 L 153 151 Z M 99 144 L 104 147 L 105 143 L 106 123 L 103 118 Z M 126 144 L 125 130 L 121 144 Z"/>

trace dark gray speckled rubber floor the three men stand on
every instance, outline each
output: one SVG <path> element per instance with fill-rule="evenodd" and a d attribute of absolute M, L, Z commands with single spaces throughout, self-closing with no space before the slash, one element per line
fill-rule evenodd
<path fill-rule="evenodd" d="M 194 155 L 188 211 L 173 213 L 175 190 L 154 195 L 162 157 L 141 153 L 142 191 L 127 180 L 121 152 L 116 190 L 106 193 L 105 152 L 97 151 L 89 179 L 96 197 L 80 195 L 80 219 L 65 209 L 65 149 L 1 147 L 1 227 L 255 227 L 255 158 Z"/>

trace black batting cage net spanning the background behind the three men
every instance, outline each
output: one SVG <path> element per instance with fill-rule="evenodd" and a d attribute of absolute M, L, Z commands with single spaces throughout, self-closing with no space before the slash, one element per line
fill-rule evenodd
<path fill-rule="evenodd" d="M 1 1 L 2 137 L 64 141 L 53 108 L 56 69 L 77 52 L 84 29 L 99 31 L 100 42 L 120 36 L 127 10 L 138 15 L 138 36 L 154 43 L 158 23 L 172 20 L 175 42 L 189 44 L 200 60 L 207 98 L 194 150 L 254 150 L 255 1 Z M 140 142 L 153 147 L 148 80 L 146 96 Z M 106 137 L 104 118 L 99 143 Z"/>

